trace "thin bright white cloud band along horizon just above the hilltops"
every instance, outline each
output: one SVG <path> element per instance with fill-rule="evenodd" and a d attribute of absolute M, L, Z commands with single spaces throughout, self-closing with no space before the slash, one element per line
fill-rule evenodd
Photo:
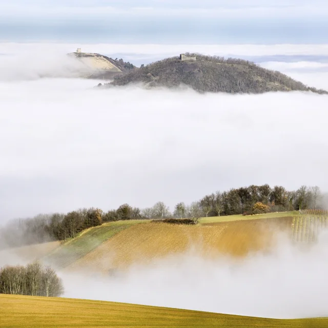
<path fill-rule="evenodd" d="M 83 48 L 86 52 L 97 52 L 101 54 L 133 54 L 133 55 L 166 55 L 176 56 L 183 51 L 199 52 L 211 55 L 328 55 L 328 44 L 110 44 L 110 43 L 9 43 L 0 42 L 0 53 L 2 54 L 41 54 L 45 53 L 63 54 Z M 45 60 L 45 59 L 44 59 Z"/>

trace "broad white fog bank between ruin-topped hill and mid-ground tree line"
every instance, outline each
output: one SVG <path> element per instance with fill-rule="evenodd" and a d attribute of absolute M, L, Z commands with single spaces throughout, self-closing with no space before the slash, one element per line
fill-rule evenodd
<path fill-rule="evenodd" d="M 128 202 L 172 209 L 269 183 L 328 190 L 328 97 L 0 82 L 0 220 Z"/>

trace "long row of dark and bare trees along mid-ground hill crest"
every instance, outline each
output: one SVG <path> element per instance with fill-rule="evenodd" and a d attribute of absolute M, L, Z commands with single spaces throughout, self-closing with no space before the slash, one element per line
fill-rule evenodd
<path fill-rule="evenodd" d="M 302 186 L 287 191 L 282 186 L 269 185 L 241 187 L 204 196 L 191 204 L 178 202 L 171 212 L 162 201 L 151 208 L 140 209 L 122 204 L 118 209 L 103 212 L 100 209 L 79 209 L 53 214 L 39 214 L 33 218 L 16 219 L 0 230 L 0 249 L 51 240 L 74 238 L 79 232 L 100 226 L 104 222 L 131 219 L 167 219 L 224 215 L 254 215 L 304 209 L 320 209 L 319 187 Z"/>

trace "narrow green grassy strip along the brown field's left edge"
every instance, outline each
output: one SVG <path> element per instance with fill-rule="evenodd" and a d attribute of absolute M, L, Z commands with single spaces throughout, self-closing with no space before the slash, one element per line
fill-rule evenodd
<path fill-rule="evenodd" d="M 55 268 L 66 268 L 118 232 L 142 222 L 142 220 L 117 221 L 90 228 L 76 238 L 61 244 L 60 247 L 47 254 L 43 260 L 51 263 Z"/>

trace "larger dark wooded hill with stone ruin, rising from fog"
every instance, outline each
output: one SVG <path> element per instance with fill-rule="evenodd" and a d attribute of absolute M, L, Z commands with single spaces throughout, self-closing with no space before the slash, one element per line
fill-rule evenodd
<path fill-rule="evenodd" d="M 251 61 L 200 54 L 196 60 L 171 57 L 141 66 L 128 74 L 115 76 L 106 87 L 145 84 L 148 88 L 176 88 L 187 85 L 198 92 L 263 93 L 269 91 L 312 91 L 328 94 L 305 86 L 278 71 L 264 69 Z"/>

